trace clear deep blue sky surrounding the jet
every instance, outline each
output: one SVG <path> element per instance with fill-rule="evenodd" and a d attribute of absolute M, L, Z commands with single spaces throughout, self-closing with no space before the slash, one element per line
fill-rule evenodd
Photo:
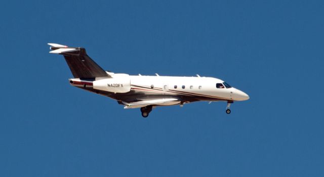
<path fill-rule="evenodd" d="M 324 176 L 322 1 L 6 1 L 0 176 Z M 249 101 L 124 110 L 48 42 L 106 70 L 212 76 Z"/>

